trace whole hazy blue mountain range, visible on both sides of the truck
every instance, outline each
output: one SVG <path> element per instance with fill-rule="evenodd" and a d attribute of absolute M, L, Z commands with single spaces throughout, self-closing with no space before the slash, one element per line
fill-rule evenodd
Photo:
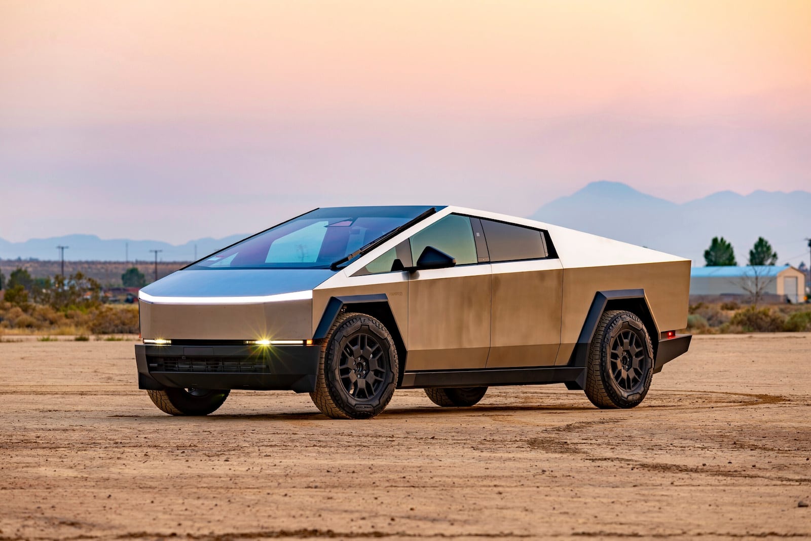
<path fill-rule="evenodd" d="M 531 218 L 572 229 L 616 238 L 666 251 L 704 264 L 704 250 L 715 236 L 723 236 L 735 247 L 738 264 L 746 264 L 749 249 L 757 237 L 766 238 L 778 254 L 779 264 L 795 266 L 809 260 L 811 237 L 811 193 L 808 191 L 755 191 L 739 195 L 719 191 L 699 200 L 676 204 L 643 194 L 621 182 L 591 182 L 573 195 L 543 205 Z M 225 238 L 197 238 L 174 246 L 152 240 L 101 239 L 96 235 L 32 238 L 10 243 L 0 238 L 0 259 L 18 257 L 58 259 L 58 245 L 69 246 L 69 260 L 152 260 L 150 250 L 162 250 L 163 261 L 191 261 L 247 234 Z M 128 248 L 127 248 L 128 245 Z M 128 252 L 128 254 L 127 254 Z"/>

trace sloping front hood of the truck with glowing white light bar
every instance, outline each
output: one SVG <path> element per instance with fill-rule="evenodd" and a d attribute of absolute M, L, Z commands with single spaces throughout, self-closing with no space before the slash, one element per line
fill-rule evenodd
<path fill-rule="evenodd" d="M 144 287 L 140 297 L 148 303 L 262 303 L 271 295 L 310 291 L 333 274 L 320 268 L 181 270 Z"/>

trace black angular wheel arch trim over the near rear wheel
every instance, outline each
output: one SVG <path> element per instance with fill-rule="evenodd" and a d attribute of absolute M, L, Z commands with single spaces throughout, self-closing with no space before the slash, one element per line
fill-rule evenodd
<path fill-rule="evenodd" d="M 597 330 L 600 317 L 608 310 L 624 310 L 636 314 L 650 335 L 650 343 L 654 348 L 654 359 L 659 349 L 659 327 L 654 320 L 650 304 L 645 296 L 645 290 L 604 290 L 594 294 L 586 320 L 577 337 L 577 344 L 569 359 L 569 364 L 576 367 L 586 367 L 588 348 L 594 332 Z"/>

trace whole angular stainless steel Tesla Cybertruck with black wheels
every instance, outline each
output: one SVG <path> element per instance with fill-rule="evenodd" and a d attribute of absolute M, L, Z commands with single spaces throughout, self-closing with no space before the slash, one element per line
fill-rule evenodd
<path fill-rule="evenodd" d="M 394 389 L 473 406 L 553 383 L 629 408 L 688 350 L 689 280 L 689 260 L 525 218 L 317 208 L 144 287 L 138 383 L 174 415 L 231 389 L 365 419 Z"/>

